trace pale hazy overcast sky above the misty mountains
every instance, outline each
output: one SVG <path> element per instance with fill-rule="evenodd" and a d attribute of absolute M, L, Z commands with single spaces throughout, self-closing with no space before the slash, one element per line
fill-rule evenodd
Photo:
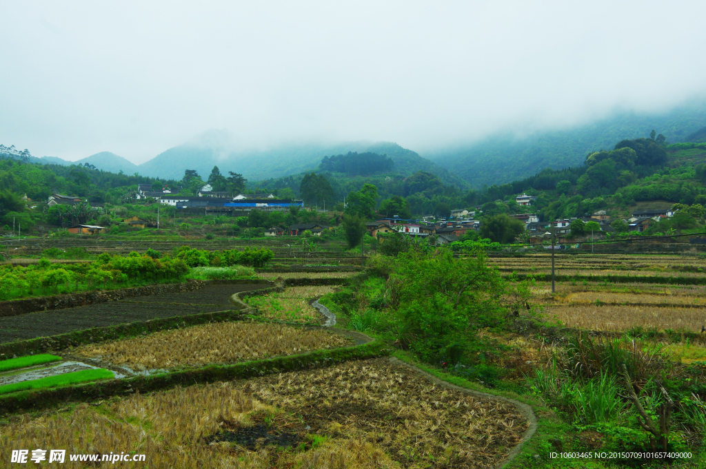
<path fill-rule="evenodd" d="M 0 143 L 139 164 L 231 145 L 423 152 L 706 95 L 704 1 L 0 0 Z"/>

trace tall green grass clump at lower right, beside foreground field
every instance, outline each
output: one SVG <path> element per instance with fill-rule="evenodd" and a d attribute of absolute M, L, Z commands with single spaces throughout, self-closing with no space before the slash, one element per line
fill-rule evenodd
<path fill-rule="evenodd" d="M 550 367 L 527 376 L 534 394 L 566 414 L 578 430 L 597 430 L 613 449 L 674 449 L 670 442 L 674 400 L 665 389 L 676 376 L 659 344 L 620 338 L 576 336 L 559 349 Z M 674 385 L 671 385 L 674 390 Z M 684 404 L 686 402 L 686 404 Z M 683 424 L 703 429 L 702 402 L 681 400 Z M 637 428 L 635 428 L 637 427 Z M 682 438 L 672 439 L 678 441 Z"/>

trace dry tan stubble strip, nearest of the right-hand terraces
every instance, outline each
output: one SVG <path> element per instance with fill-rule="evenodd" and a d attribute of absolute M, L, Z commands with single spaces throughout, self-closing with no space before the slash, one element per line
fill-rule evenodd
<path fill-rule="evenodd" d="M 549 307 L 546 315 L 556 316 L 566 327 L 595 331 L 642 327 L 698 332 L 706 321 L 704 310 L 698 307 L 561 305 Z"/>

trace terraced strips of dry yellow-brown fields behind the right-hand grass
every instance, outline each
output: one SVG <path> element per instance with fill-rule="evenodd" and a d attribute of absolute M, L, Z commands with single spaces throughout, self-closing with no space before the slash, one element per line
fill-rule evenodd
<path fill-rule="evenodd" d="M 491 263 L 504 274 L 544 274 L 537 277 L 534 302 L 566 327 L 700 332 L 706 326 L 706 263 L 701 257 L 556 255 L 560 281 L 554 294 L 549 254 L 494 257 Z M 600 279 L 592 281 L 592 276 Z"/>

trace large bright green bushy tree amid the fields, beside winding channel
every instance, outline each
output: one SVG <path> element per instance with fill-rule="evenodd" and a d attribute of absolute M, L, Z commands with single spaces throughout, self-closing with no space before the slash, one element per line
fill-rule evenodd
<path fill-rule="evenodd" d="M 467 360 L 475 331 L 497 324 L 508 311 L 504 299 L 514 296 L 482 250 L 463 259 L 448 249 L 402 252 L 388 289 L 395 339 L 429 363 Z"/>

